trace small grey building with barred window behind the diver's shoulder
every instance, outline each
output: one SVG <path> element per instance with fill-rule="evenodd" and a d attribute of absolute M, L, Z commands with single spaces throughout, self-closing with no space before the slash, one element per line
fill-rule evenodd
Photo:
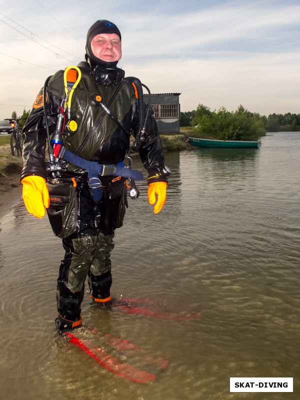
<path fill-rule="evenodd" d="M 159 133 L 179 133 L 181 93 L 151 94 L 151 106 L 157 122 Z M 144 94 L 144 102 L 148 104 L 149 95 Z"/>

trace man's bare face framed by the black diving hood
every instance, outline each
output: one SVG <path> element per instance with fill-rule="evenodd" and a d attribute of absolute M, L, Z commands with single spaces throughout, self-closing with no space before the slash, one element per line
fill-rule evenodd
<path fill-rule="evenodd" d="M 121 40 L 116 33 L 96 34 L 90 42 L 93 55 L 102 61 L 118 61 L 122 56 Z"/>

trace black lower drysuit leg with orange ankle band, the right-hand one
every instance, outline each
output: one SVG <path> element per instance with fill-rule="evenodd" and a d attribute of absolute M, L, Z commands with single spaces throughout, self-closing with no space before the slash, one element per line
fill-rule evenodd
<path fill-rule="evenodd" d="M 101 275 L 93 275 L 88 273 L 88 286 L 92 299 L 97 303 L 107 303 L 111 300 L 110 286 L 112 278 L 110 271 Z"/>

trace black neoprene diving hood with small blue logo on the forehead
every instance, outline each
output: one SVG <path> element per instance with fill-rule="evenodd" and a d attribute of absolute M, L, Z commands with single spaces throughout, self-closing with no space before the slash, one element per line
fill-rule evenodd
<path fill-rule="evenodd" d="M 89 60 L 92 64 L 116 65 L 117 61 L 104 62 L 93 55 L 93 53 L 91 51 L 91 47 L 90 47 L 90 42 L 91 42 L 91 39 L 99 33 L 116 33 L 121 40 L 121 33 L 114 23 L 107 21 L 106 19 L 99 19 L 98 21 L 96 21 L 95 23 L 93 23 L 91 25 L 91 27 L 88 29 L 88 32 L 86 35 L 85 51 L 86 51 L 87 57 L 89 58 Z"/>

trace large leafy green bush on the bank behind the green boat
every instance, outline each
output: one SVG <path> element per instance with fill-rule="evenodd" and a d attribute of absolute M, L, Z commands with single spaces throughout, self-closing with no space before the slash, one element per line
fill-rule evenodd
<path fill-rule="evenodd" d="M 220 140 L 258 140 L 265 135 L 263 118 L 242 105 L 232 112 L 224 107 L 211 112 L 200 104 L 192 124 L 199 135 Z"/>

